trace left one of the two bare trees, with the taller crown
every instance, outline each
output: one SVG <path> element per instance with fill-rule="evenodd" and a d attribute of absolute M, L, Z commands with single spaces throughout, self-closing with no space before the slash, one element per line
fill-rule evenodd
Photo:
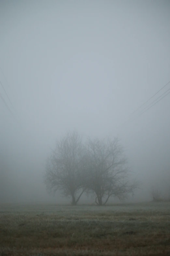
<path fill-rule="evenodd" d="M 84 192 L 84 147 L 77 131 L 56 142 L 55 150 L 47 159 L 45 184 L 49 193 L 60 190 L 64 196 L 72 197 L 76 205 Z"/>

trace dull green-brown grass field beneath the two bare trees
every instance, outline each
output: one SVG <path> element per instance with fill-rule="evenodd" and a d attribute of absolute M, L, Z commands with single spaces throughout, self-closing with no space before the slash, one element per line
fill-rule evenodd
<path fill-rule="evenodd" d="M 0 205 L 0 255 L 170 255 L 170 203 Z"/>

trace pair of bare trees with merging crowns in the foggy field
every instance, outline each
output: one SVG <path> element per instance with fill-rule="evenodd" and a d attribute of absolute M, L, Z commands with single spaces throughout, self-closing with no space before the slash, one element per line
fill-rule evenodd
<path fill-rule="evenodd" d="M 134 193 L 139 182 L 130 174 L 118 138 L 83 142 L 73 131 L 56 141 L 46 162 L 44 182 L 48 193 L 59 190 L 71 196 L 72 205 L 84 192 L 94 194 L 96 204 L 105 205 L 111 196 L 123 199 Z"/>

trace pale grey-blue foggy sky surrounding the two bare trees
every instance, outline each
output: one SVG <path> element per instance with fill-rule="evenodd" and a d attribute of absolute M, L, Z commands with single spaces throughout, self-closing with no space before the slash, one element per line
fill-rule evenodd
<path fill-rule="evenodd" d="M 121 139 L 142 182 L 129 200 L 166 190 L 170 94 L 129 116 L 170 80 L 169 13 L 162 0 L 0 2 L 0 93 L 12 111 L 0 98 L 0 202 L 69 202 L 42 181 L 50 148 L 73 129 Z"/>

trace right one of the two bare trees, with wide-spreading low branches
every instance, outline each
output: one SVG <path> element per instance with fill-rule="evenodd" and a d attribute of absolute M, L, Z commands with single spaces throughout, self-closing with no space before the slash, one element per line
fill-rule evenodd
<path fill-rule="evenodd" d="M 117 138 L 107 141 L 88 140 L 88 176 L 85 182 L 88 190 L 95 194 L 98 205 L 105 205 L 110 196 L 125 198 L 128 193 L 134 193 L 138 186 L 138 182 L 129 180 L 127 160 L 122 153 L 123 149 Z"/>

